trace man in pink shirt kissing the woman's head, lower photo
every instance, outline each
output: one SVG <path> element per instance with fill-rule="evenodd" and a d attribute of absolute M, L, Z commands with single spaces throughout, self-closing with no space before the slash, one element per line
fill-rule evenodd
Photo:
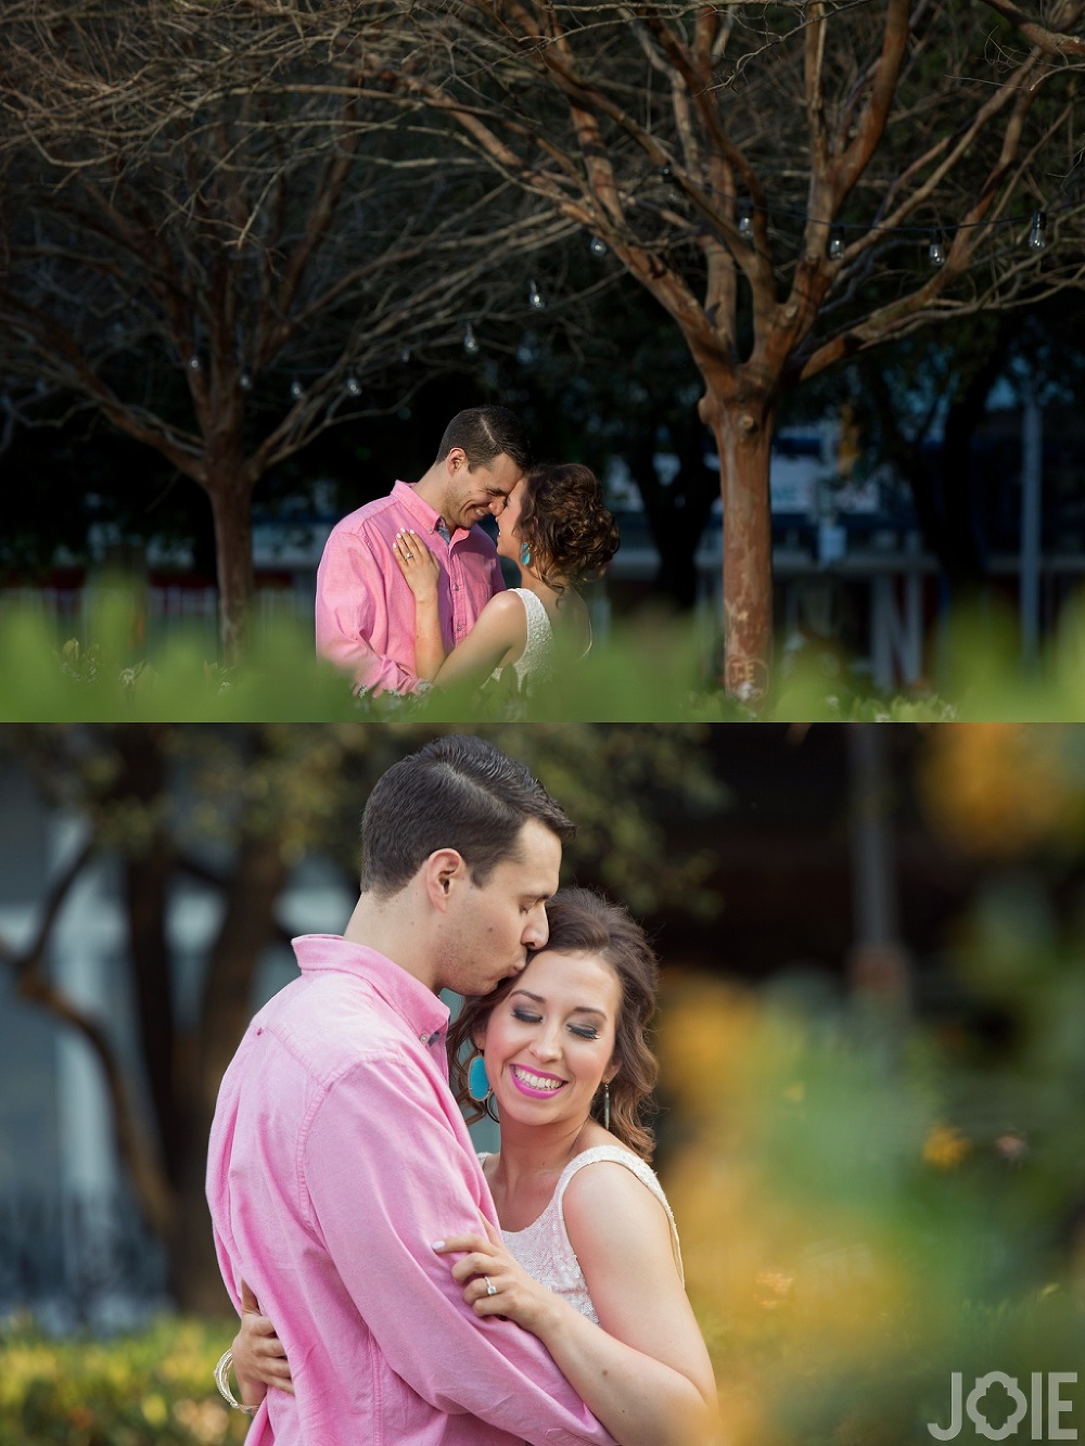
<path fill-rule="evenodd" d="M 275 1320 L 295 1394 L 249 1446 L 608 1443 L 540 1340 L 464 1306 L 433 1244 L 496 1225 L 448 1089 L 443 988 L 488 993 L 547 940 L 574 829 L 482 739 L 379 779 L 344 934 L 295 940 L 301 979 L 223 1079 L 207 1193 L 226 1285 Z"/>

